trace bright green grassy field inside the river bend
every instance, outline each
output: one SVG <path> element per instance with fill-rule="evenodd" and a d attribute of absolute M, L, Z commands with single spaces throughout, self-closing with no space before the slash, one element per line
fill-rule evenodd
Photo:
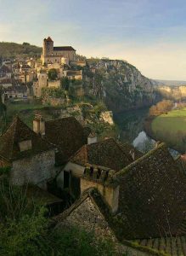
<path fill-rule="evenodd" d="M 156 141 L 165 142 L 180 153 L 186 151 L 186 108 L 169 111 L 144 122 L 144 130 Z"/>

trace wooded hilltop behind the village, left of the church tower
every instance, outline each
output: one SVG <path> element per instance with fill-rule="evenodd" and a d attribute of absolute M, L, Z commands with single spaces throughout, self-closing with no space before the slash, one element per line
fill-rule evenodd
<path fill-rule="evenodd" d="M 0 56 L 3 57 L 18 57 L 18 56 L 33 56 L 41 55 L 42 48 L 29 43 L 16 44 L 8 42 L 0 42 Z"/>

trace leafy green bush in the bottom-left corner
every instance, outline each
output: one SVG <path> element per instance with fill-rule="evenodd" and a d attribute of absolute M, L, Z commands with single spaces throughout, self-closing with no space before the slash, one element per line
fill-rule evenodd
<path fill-rule="evenodd" d="M 37 244 L 39 236 L 46 234 L 45 209 L 22 215 L 19 220 L 7 218 L 0 224 L 0 255 L 42 255 Z"/>

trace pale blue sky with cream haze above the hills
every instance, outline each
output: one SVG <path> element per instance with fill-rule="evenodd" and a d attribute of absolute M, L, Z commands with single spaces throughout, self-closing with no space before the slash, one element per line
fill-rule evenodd
<path fill-rule="evenodd" d="M 48 36 L 150 79 L 186 80 L 185 0 L 0 0 L 0 41 L 42 46 Z"/>

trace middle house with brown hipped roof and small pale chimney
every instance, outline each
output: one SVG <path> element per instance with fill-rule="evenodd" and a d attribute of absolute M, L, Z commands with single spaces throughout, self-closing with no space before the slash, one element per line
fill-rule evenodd
<path fill-rule="evenodd" d="M 110 169 L 118 172 L 132 163 L 132 149 L 136 152 L 136 159 L 138 155 L 142 155 L 132 146 L 129 150 L 129 146 L 126 147 L 127 144 L 117 143 L 113 138 L 97 143 L 96 137 L 90 134 L 87 137 L 87 143 L 70 158 L 57 177 L 58 186 L 70 188 L 70 193 L 75 197 L 80 193 L 80 178 L 87 166 L 99 172 Z"/>

